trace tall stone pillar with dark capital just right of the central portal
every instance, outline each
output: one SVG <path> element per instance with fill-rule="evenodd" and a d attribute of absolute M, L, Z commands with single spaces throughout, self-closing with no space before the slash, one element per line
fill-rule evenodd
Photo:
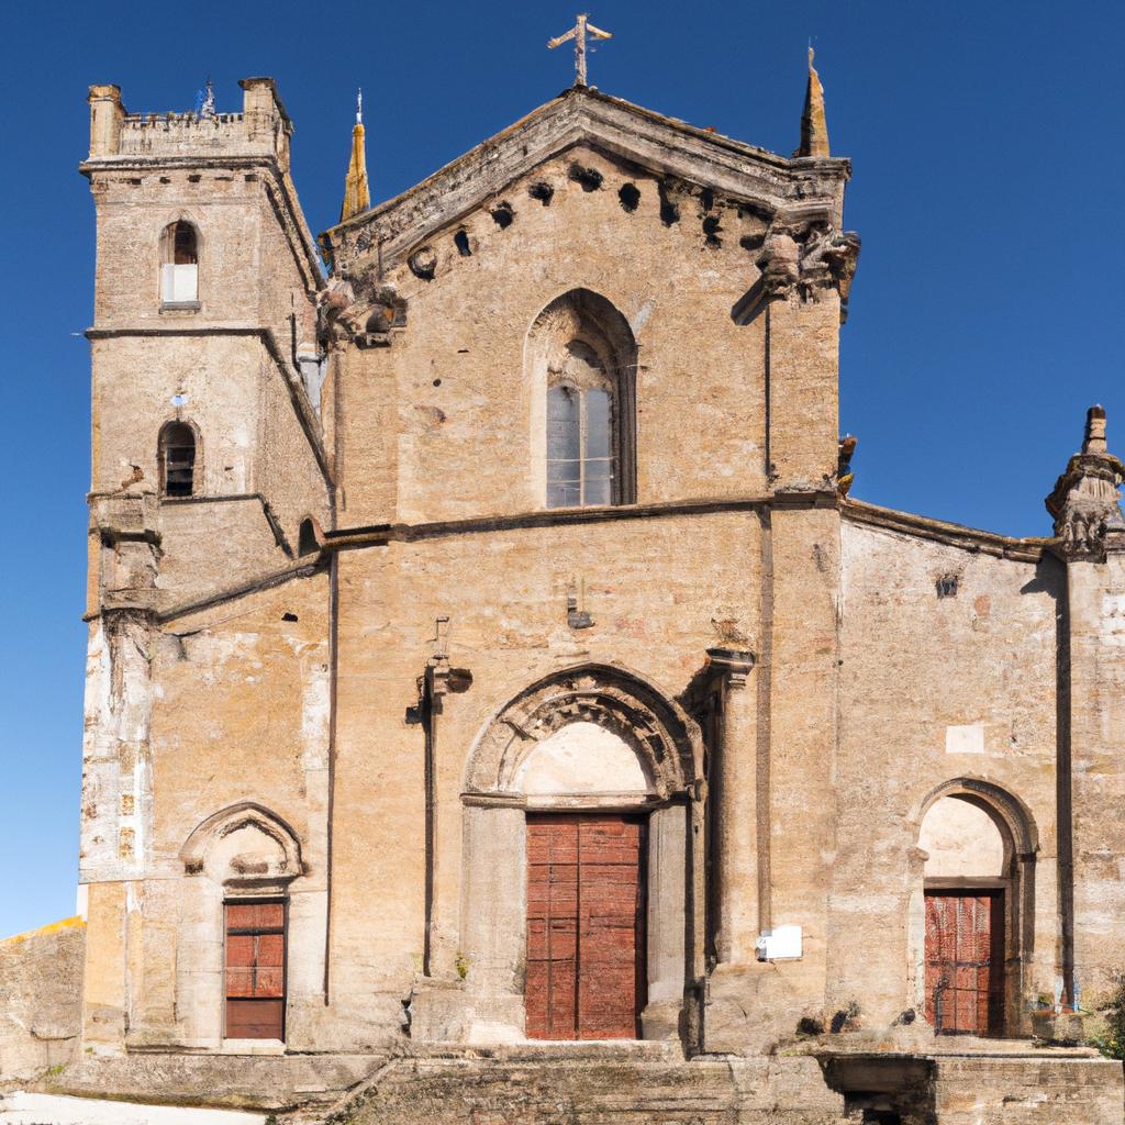
<path fill-rule="evenodd" d="M 741 964 L 755 958 L 758 934 L 758 709 L 746 686 L 754 654 L 712 648 L 706 655 L 720 680 L 721 714 L 721 745 L 708 780 L 718 821 L 710 872 L 718 881 L 716 952 L 720 964 Z"/>

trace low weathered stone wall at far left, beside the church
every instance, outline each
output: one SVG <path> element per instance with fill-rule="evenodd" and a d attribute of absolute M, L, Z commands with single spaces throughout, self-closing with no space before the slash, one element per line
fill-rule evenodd
<path fill-rule="evenodd" d="M 0 1082 L 37 1078 L 71 1060 L 84 952 L 81 918 L 0 942 Z"/>

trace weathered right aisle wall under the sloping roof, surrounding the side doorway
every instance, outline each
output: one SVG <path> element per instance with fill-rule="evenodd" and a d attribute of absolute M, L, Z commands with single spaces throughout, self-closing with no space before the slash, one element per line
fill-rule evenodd
<path fill-rule="evenodd" d="M 939 597 L 940 579 L 955 594 Z M 830 1007 L 854 1001 L 875 1026 L 907 1009 L 922 1017 L 918 834 L 928 799 L 956 778 L 1010 794 L 1037 828 L 1023 864 L 1033 948 L 1022 970 L 1007 966 L 1018 975 L 1009 1027 L 1026 1027 L 1041 994 L 1053 1000 L 1063 583 L 1050 557 L 1014 561 L 844 520 Z"/>

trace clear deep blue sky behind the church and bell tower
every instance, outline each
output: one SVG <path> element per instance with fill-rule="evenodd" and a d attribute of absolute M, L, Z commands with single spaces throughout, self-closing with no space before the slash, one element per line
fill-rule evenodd
<path fill-rule="evenodd" d="M 1125 452 L 1119 3 L 590 0 L 609 93 L 766 148 L 796 144 L 811 36 L 863 236 L 844 330 L 855 495 L 1011 534 L 1106 405 Z M 72 911 L 86 629 L 93 209 L 86 89 L 186 110 L 272 74 L 314 231 L 339 214 L 362 84 L 375 199 L 570 82 L 574 0 L 14 4 L 3 96 L 0 936 Z"/>

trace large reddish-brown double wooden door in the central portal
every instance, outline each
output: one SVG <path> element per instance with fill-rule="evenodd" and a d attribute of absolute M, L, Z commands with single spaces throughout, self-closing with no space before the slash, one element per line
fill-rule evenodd
<path fill-rule="evenodd" d="M 528 816 L 528 1036 L 631 1040 L 645 984 L 645 824 Z"/>

